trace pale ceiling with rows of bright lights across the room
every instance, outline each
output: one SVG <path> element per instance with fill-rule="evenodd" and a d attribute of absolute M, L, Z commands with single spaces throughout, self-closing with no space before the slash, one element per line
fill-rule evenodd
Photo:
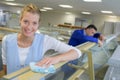
<path fill-rule="evenodd" d="M 120 0 L 102 0 L 102 2 L 84 2 L 83 0 L 15 0 L 12 3 L 18 3 L 18 7 L 21 7 L 28 3 L 34 3 L 40 8 L 51 7 L 54 12 L 76 12 L 89 11 L 92 15 L 104 15 L 101 10 L 112 11 L 110 15 L 120 16 Z M 71 5 L 73 8 L 64 9 L 59 7 L 59 4 Z M 0 0 L 0 8 L 5 5 L 5 0 Z M 6 7 L 6 6 L 4 6 Z M 3 7 L 3 8 L 4 8 Z M 9 6 L 6 9 L 12 10 L 13 7 Z M 14 9 L 15 10 L 15 9 Z M 105 14 L 106 15 L 106 14 Z"/>

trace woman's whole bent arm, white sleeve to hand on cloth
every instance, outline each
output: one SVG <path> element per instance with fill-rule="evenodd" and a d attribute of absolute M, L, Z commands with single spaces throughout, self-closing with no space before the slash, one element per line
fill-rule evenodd
<path fill-rule="evenodd" d="M 81 56 L 81 51 L 75 47 L 72 47 L 66 43 L 63 43 L 55 38 L 46 36 L 44 41 L 44 50 L 54 49 L 59 53 L 57 56 L 46 57 L 37 63 L 39 66 L 49 66 L 61 61 L 70 61 L 77 59 Z"/>

